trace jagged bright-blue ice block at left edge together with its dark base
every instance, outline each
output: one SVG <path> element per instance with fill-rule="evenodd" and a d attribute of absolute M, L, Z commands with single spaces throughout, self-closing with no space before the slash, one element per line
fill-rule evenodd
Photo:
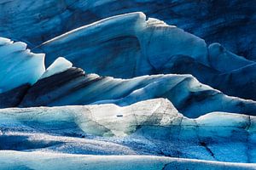
<path fill-rule="evenodd" d="M 0 108 L 20 103 L 27 89 L 43 75 L 44 55 L 32 53 L 25 42 L 0 37 Z"/>

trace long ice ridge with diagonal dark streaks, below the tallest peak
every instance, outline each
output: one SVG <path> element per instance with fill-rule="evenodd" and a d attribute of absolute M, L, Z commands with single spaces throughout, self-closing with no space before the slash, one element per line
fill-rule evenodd
<path fill-rule="evenodd" d="M 152 75 L 119 79 L 85 74 L 72 67 L 40 79 L 26 92 L 21 107 L 113 103 L 131 105 L 155 98 L 170 99 L 185 116 L 212 111 L 255 115 L 256 103 L 224 95 L 189 75 Z"/>

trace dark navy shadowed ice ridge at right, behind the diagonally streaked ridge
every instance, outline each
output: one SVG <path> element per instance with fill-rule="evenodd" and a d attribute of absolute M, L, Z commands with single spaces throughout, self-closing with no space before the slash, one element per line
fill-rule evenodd
<path fill-rule="evenodd" d="M 218 58 L 216 58 L 218 59 Z M 232 59 L 234 61 L 234 59 Z M 224 60 L 223 60 L 224 61 Z M 232 62 L 225 60 L 220 65 L 231 65 Z M 242 64 L 242 62 L 239 62 Z M 218 66 L 216 63 L 215 66 Z M 226 66 L 230 68 L 230 66 Z M 256 100 L 256 63 L 241 66 L 233 71 L 221 72 L 207 65 L 202 65 L 189 56 L 173 56 L 158 73 L 191 74 L 200 82 L 218 89 L 224 94 L 237 96 L 242 99 Z"/>

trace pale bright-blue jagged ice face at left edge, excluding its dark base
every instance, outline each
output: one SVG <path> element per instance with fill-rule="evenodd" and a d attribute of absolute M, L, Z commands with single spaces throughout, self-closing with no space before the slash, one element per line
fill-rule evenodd
<path fill-rule="evenodd" d="M 44 71 L 44 54 L 31 53 L 24 42 L 0 38 L 0 93 L 33 84 Z"/>

